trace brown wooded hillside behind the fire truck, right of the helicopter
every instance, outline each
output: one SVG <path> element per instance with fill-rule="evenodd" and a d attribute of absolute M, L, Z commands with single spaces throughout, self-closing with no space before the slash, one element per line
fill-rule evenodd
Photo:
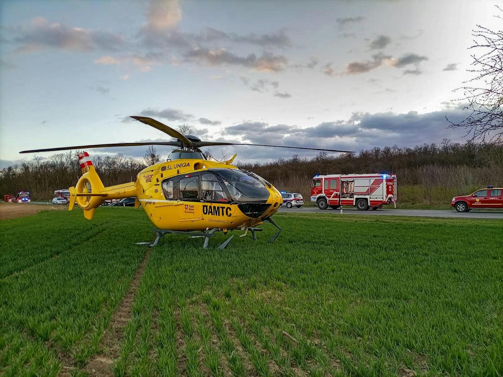
<path fill-rule="evenodd" d="M 397 174 L 402 203 L 444 203 L 454 195 L 469 194 L 487 184 L 503 185 L 503 143 L 423 144 L 413 148 L 374 147 L 359 153 L 312 159 L 293 155 L 266 164 L 240 164 L 253 170 L 281 190 L 309 198 L 309 182 L 316 174 Z M 441 194 L 442 193 L 442 194 Z"/>

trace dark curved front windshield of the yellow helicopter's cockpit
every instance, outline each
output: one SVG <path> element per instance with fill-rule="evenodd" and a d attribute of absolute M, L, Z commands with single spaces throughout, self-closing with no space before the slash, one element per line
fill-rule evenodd
<path fill-rule="evenodd" d="M 232 201 L 244 203 L 265 203 L 269 191 L 257 178 L 238 169 L 209 169 L 222 178 Z"/>

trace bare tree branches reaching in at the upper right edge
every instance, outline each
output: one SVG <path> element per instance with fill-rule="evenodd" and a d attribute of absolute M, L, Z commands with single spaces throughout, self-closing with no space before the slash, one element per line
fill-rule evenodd
<path fill-rule="evenodd" d="M 501 9 L 495 6 L 499 12 Z M 499 15 L 494 16 L 501 19 Z M 480 55 L 473 54 L 472 69 L 468 72 L 476 76 L 465 81 L 467 84 L 457 90 L 463 90 L 463 98 L 467 100 L 463 110 L 470 114 L 459 123 L 447 121 L 449 128 L 464 128 L 466 136 L 471 140 L 503 141 L 503 31 L 492 31 L 477 25 L 473 31 L 474 45 L 470 49 Z M 469 83 L 469 84 L 468 84 Z"/>

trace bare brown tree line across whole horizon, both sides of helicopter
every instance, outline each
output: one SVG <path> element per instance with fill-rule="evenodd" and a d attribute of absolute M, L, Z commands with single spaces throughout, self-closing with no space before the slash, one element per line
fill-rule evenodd
<path fill-rule="evenodd" d="M 134 181 L 146 166 L 159 162 L 155 148 L 149 147 L 142 159 L 126 158 L 123 154 L 95 155 L 93 163 L 103 183 L 114 185 Z M 271 181 L 281 190 L 309 195 L 309 182 L 315 174 L 395 173 L 398 185 L 455 187 L 503 185 L 503 144 L 452 143 L 424 144 L 413 148 L 374 147 L 358 153 L 337 156 L 320 152 L 314 158 L 280 158 L 268 163 L 238 163 Z M 76 183 L 80 167 L 74 152 L 57 153 L 47 159 L 35 156 L 21 164 L 0 170 L 0 193 L 15 194 L 21 190 L 32 198 L 50 199 L 54 190 Z"/>

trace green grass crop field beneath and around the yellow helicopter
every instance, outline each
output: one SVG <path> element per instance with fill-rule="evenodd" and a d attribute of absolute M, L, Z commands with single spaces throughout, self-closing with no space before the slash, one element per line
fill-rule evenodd
<path fill-rule="evenodd" d="M 503 222 L 275 220 L 149 253 L 141 210 L 2 221 L 0 375 L 503 374 Z"/>

